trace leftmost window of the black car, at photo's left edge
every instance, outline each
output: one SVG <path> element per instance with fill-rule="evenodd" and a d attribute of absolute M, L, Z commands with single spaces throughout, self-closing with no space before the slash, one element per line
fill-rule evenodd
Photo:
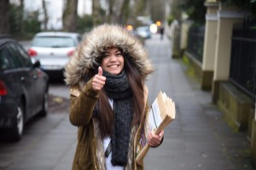
<path fill-rule="evenodd" d="M 0 48 L 0 71 L 14 69 L 15 64 L 6 48 Z"/>

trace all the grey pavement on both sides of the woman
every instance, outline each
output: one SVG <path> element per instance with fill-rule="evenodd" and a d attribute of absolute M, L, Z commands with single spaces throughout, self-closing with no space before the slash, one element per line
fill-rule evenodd
<path fill-rule="evenodd" d="M 185 66 L 172 59 L 172 43 L 160 35 L 145 42 L 155 71 L 146 82 L 148 103 L 159 91 L 176 103 L 176 119 L 165 129 L 163 144 L 150 149 L 146 170 L 253 170 L 244 133 L 235 133 L 222 112 L 211 102 L 211 93 L 185 75 Z M 50 84 L 49 94 L 68 98 L 63 83 Z M 19 143 L 0 142 L 0 170 L 70 170 L 77 128 L 68 113 L 36 117 L 26 126 Z"/>

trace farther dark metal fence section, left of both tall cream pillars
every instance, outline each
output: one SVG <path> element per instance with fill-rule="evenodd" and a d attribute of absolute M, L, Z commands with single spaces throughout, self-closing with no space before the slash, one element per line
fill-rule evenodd
<path fill-rule="evenodd" d="M 189 53 L 202 63 L 203 48 L 204 48 L 205 27 L 190 27 L 188 34 Z"/>

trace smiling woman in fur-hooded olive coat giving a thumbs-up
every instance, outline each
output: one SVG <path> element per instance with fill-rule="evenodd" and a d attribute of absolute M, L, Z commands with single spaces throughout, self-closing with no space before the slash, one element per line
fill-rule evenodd
<path fill-rule="evenodd" d="M 143 44 L 125 28 L 104 24 L 84 35 L 65 69 L 69 118 L 78 127 L 73 170 L 143 169 L 135 157 L 153 71 Z M 163 134 L 151 132 L 146 141 L 157 147 Z"/>

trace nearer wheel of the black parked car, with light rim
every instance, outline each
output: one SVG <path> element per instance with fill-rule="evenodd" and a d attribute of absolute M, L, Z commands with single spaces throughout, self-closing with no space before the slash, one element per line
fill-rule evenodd
<path fill-rule="evenodd" d="M 19 141 L 22 138 L 24 131 L 24 109 L 22 102 L 17 106 L 17 114 L 15 116 L 15 124 L 12 129 L 12 137 L 14 140 Z"/>

